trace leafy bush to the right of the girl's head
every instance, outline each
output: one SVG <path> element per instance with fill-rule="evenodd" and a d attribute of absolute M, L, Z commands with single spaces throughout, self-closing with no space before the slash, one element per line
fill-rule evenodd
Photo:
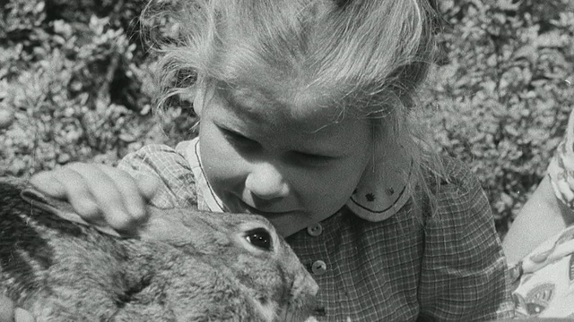
<path fill-rule="evenodd" d="M 446 59 L 423 101 L 439 149 L 463 159 L 500 233 L 544 176 L 574 107 L 574 3 L 443 1 Z"/>

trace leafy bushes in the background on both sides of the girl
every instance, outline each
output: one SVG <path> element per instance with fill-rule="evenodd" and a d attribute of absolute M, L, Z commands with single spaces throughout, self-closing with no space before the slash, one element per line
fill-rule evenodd
<path fill-rule="evenodd" d="M 9 0 L 0 9 L 0 175 L 73 161 L 114 165 L 190 138 L 185 100 L 152 117 L 145 0 Z M 574 107 L 574 2 L 439 0 L 443 55 L 422 90 L 441 153 L 487 191 L 501 235 L 544 175 Z M 572 85 L 570 85 L 570 82 Z"/>

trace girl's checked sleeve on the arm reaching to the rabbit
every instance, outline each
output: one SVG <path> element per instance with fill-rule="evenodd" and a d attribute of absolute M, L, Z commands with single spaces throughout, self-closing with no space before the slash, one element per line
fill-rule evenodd
<path fill-rule="evenodd" d="M 155 175 L 160 187 L 150 203 L 158 208 L 197 208 L 196 181 L 186 158 L 175 148 L 152 144 L 124 157 L 117 167 L 136 179 Z"/>

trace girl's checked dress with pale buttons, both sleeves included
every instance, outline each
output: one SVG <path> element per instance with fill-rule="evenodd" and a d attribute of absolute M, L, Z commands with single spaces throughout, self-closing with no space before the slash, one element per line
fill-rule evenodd
<path fill-rule="evenodd" d="M 196 140 L 177 148 L 146 146 L 119 167 L 135 177 L 161 178 L 152 199 L 157 207 L 222 211 L 194 145 Z M 417 207 L 424 204 L 411 201 L 420 197 L 418 191 L 399 198 L 401 207 L 380 220 L 359 216 L 357 200 L 350 200 L 333 216 L 287 238 L 319 285 L 317 320 L 513 317 L 506 260 L 488 200 L 465 166 L 454 160 L 446 166 L 451 180 L 440 187 L 432 216 Z"/>

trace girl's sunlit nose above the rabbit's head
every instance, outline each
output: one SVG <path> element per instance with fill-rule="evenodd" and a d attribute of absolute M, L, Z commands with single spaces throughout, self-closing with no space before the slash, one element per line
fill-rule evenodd
<path fill-rule="evenodd" d="M 289 194 L 289 185 L 283 174 L 268 163 L 253 166 L 245 181 L 245 188 L 259 199 L 265 200 L 283 198 Z"/>

